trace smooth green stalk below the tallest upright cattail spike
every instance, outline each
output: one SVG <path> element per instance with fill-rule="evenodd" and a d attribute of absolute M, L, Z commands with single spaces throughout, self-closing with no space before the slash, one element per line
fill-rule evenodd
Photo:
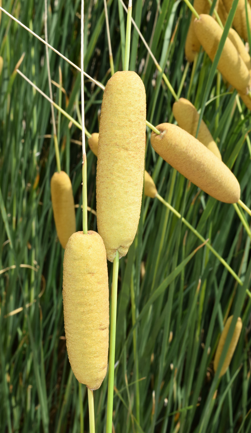
<path fill-rule="evenodd" d="M 113 286 L 112 286 L 112 306 L 111 306 L 111 325 L 110 325 L 110 349 L 109 349 L 109 376 L 108 376 L 106 433 L 112 433 L 112 427 L 113 427 L 113 384 L 114 384 L 114 362 L 115 362 L 115 336 L 116 336 L 118 273 L 119 273 L 119 252 L 117 251 L 115 259 L 113 260 Z"/>

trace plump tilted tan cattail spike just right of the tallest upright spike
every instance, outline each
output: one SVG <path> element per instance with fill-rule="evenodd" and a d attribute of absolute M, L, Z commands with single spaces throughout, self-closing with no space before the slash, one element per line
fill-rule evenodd
<path fill-rule="evenodd" d="M 206 146 L 171 123 L 162 123 L 157 129 L 161 134 L 151 133 L 151 145 L 168 164 L 217 200 L 239 200 L 240 185 L 235 175 Z"/>

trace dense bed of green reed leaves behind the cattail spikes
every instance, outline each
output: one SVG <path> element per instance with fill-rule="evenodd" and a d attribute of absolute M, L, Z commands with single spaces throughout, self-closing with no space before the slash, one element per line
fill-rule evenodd
<path fill-rule="evenodd" d="M 43 1 L 8 0 L 3 7 L 44 39 Z M 126 14 L 116 0 L 107 9 L 118 71 Z M 84 70 L 105 85 L 111 74 L 103 0 L 85 1 L 84 10 Z M 217 73 L 208 87 L 212 63 L 202 51 L 191 80 L 192 65 L 184 56 L 187 5 L 135 0 L 132 17 L 174 91 L 198 110 L 209 95 L 203 119 L 241 185 L 241 200 L 251 207 L 250 111 L 241 103 L 241 118 L 236 91 Z M 80 65 L 80 0 L 48 2 L 48 42 Z M 23 53 L 19 69 L 48 95 L 45 45 L 2 13 L 0 430 L 87 432 L 87 390 L 71 371 L 64 336 L 64 250 L 50 192 L 57 169 L 50 104 L 16 74 Z M 80 73 L 51 50 L 49 57 L 53 98 L 80 121 Z M 147 120 L 172 122 L 175 99 L 133 26 L 129 70 L 145 84 Z M 86 78 L 84 84 L 85 126 L 98 132 L 103 91 Z M 82 230 L 82 133 L 57 110 L 55 116 L 61 168 L 71 178 L 77 230 Z M 158 193 L 209 239 L 239 283 L 171 210 L 143 194 L 137 235 L 119 261 L 114 432 L 251 431 L 251 239 L 231 204 L 207 196 L 158 157 L 150 134 L 147 128 L 145 167 Z M 94 231 L 96 166 L 87 146 L 88 229 Z M 241 214 L 250 226 L 250 216 Z M 108 272 L 111 288 L 109 262 Z M 230 368 L 219 380 L 213 358 L 230 314 L 235 321 L 240 316 L 243 326 Z M 94 392 L 97 432 L 106 430 L 107 381 L 108 374 Z"/>

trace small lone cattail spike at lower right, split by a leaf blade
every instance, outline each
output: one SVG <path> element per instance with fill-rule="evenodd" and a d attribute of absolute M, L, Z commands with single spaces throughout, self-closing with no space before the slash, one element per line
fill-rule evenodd
<path fill-rule="evenodd" d="M 228 320 L 225 323 L 224 329 L 222 331 L 222 335 L 220 336 L 219 339 L 219 343 L 216 349 L 216 354 L 215 354 L 215 358 L 214 358 L 214 362 L 213 362 L 213 369 L 214 372 L 216 372 L 218 365 L 219 365 L 219 360 L 222 354 L 222 350 L 228 335 L 228 331 L 232 322 L 233 316 L 228 317 Z M 230 343 L 230 346 L 228 347 L 228 352 L 226 354 L 225 360 L 224 360 L 224 364 L 222 365 L 222 369 L 221 372 L 219 374 L 219 377 L 225 375 L 225 372 L 227 371 L 229 364 L 231 362 L 231 359 L 233 357 L 233 354 L 235 352 L 235 348 L 237 346 L 238 343 L 238 339 L 239 336 L 241 334 L 241 328 L 242 328 L 242 322 L 241 322 L 241 318 L 238 317 L 237 323 L 235 325 L 235 330 L 234 330 L 234 334 L 232 336 L 232 340 Z"/>

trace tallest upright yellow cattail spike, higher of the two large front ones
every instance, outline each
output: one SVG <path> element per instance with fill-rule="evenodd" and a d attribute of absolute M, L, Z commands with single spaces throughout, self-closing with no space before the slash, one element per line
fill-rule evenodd
<path fill-rule="evenodd" d="M 132 71 L 116 72 L 103 94 L 97 161 L 97 227 L 107 259 L 125 255 L 135 237 L 145 162 L 145 87 Z"/>

